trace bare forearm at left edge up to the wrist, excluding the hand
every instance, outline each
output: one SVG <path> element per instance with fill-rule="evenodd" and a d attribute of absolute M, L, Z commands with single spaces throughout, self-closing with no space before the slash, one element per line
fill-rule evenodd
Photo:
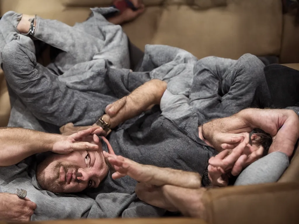
<path fill-rule="evenodd" d="M 0 128 L 0 166 L 14 165 L 33 154 L 51 151 L 60 137 L 23 128 Z"/>

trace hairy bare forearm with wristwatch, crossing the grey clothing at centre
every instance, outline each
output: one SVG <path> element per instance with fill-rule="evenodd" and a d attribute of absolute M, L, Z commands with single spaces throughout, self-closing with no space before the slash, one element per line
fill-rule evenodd
<path fill-rule="evenodd" d="M 152 79 L 144 83 L 129 96 L 120 99 L 120 101 L 125 101 L 124 106 L 116 114 L 109 111 L 109 114 L 103 116 L 103 121 L 109 123 L 111 128 L 114 128 L 121 122 L 140 115 L 151 105 L 160 104 L 166 88 L 167 83 L 158 79 Z"/>

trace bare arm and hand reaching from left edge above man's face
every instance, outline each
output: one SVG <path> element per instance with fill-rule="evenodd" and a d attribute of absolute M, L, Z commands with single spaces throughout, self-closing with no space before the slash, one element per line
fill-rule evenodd
<path fill-rule="evenodd" d="M 99 138 L 92 133 L 96 130 L 97 128 L 89 128 L 63 136 L 23 128 L 0 128 L 0 166 L 14 165 L 33 154 L 46 151 L 59 154 L 80 150 L 95 151 L 98 145 L 93 142 L 99 142 Z"/>

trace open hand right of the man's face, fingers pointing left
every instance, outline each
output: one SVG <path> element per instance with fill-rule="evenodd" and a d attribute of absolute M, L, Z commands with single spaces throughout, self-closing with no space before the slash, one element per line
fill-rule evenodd
<path fill-rule="evenodd" d="M 129 176 L 138 182 L 147 183 L 153 178 L 151 166 L 142 165 L 131 159 L 124 158 L 122 156 L 116 156 L 103 151 L 104 158 L 107 158 L 110 165 L 115 169 L 115 173 L 112 174 L 113 179 Z"/>

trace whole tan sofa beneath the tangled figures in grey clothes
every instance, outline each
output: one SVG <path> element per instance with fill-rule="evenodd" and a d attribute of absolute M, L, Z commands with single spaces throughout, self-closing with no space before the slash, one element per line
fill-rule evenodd
<path fill-rule="evenodd" d="M 237 59 L 244 53 L 278 56 L 298 68 L 299 27 L 294 13 L 282 14 L 281 0 L 144 0 L 147 9 L 123 25 L 131 42 L 172 45 L 198 58 L 215 55 Z M 69 25 L 84 21 L 89 8 L 110 0 L 0 0 L 8 10 L 38 14 Z M 0 126 L 7 124 L 9 100 L 0 75 Z M 281 183 L 209 189 L 204 195 L 209 223 L 299 223 L 299 151 Z M 99 221 L 101 222 L 101 221 Z M 115 220 L 113 223 L 121 223 Z M 133 222 L 133 221 L 132 221 Z M 140 221 L 152 223 L 150 220 Z M 94 223 L 94 222 L 93 222 Z M 110 223 L 110 221 L 109 221 Z M 134 221 L 135 223 L 135 221 Z M 154 223 L 166 223 L 155 220 Z M 204 223 L 183 219 L 176 223 Z"/>

